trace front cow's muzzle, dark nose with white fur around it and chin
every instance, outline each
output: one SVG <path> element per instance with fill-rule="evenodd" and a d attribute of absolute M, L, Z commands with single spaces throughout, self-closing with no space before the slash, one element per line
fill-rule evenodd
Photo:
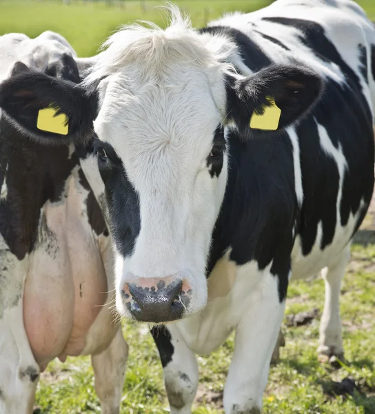
<path fill-rule="evenodd" d="M 207 304 L 204 273 L 197 277 L 183 270 L 167 277 L 136 277 L 122 268 L 116 273 L 116 310 L 126 319 L 170 324 L 199 313 Z"/>

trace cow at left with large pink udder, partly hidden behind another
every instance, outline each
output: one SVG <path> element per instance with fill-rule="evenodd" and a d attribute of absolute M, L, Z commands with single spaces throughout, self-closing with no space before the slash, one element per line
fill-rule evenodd
<path fill-rule="evenodd" d="M 0 37 L 3 81 L 39 73 L 74 88 L 75 59 L 54 32 Z M 110 238 L 81 151 L 69 140 L 37 141 L 0 115 L 1 414 L 32 413 L 40 373 L 68 355 L 92 355 L 102 413 L 119 413 L 128 345 L 109 306 Z"/>

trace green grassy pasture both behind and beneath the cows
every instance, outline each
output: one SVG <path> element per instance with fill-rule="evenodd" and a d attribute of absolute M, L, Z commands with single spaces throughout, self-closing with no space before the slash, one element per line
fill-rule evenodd
<path fill-rule="evenodd" d="M 93 55 L 121 24 L 148 19 L 163 25 L 159 1 L 101 2 L 0 0 L 0 34 L 43 30 L 63 34 L 79 56 Z M 196 26 L 232 10 L 251 11 L 265 0 L 181 0 Z M 375 20 L 375 1 L 358 1 Z M 291 284 L 283 331 L 281 362 L 272 366 L 264 397 L 265 414 L 375 414 L 375 202 L 352 246 L 341 295 L 347 364 L 334 368 L 316 359 L 318 322 L 323 310 L 323 280 Z M 296 314 L 308 312 L 299 326 Z M 302 320 L 303 319 L 303 320 Z M 169 411 L 159 355 L 147 324 L 123 324 L 130 345 L 121 404 L 124 414 Z M 199 357 L 200 386 L 194 414 L 222 414 L 222 390 L 234 348 L 234 336 L 209 357 Z M 345 380 L 342 382 L 342 380 Z M 89 357 L 52 362 L 41 375 L 35 414 L 100 413 Z"/>

